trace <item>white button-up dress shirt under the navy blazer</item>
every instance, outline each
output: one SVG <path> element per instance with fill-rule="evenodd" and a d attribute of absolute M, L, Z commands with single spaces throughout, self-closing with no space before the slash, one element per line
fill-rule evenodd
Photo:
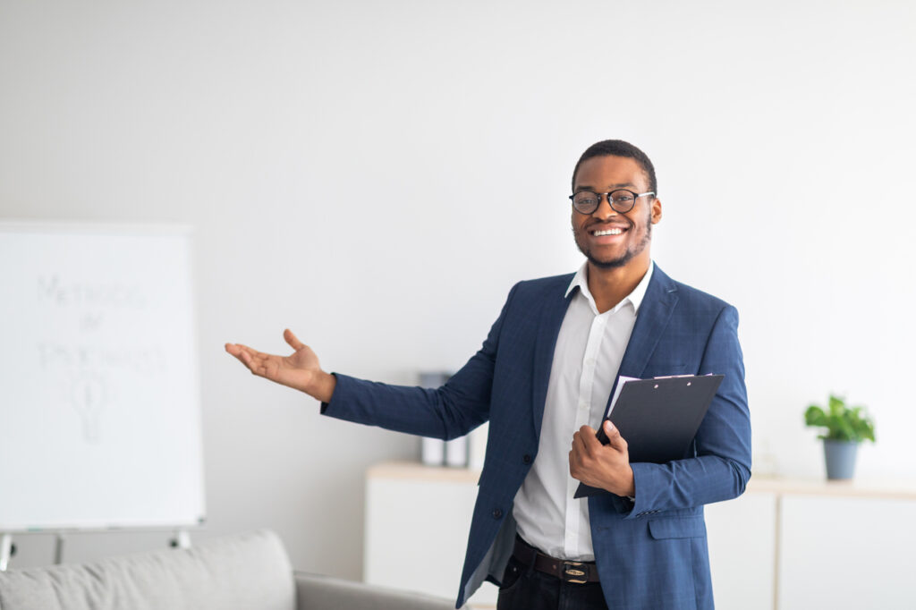
<path fill-rule="evenodd" d="M 579 289 L 563 318 L 553 350 L 538 455 L 515 497 L 518 534 L 564 560 L 594 561 L 588 498 L 574 499 L 579 481 L 570 475 L 573 432 L 597 428 L 627 350 L 654 263 L 638 286 L 612 310 L 598 313 L 588 289 L 588 264 L 575 274 L 566 296 Z"/>

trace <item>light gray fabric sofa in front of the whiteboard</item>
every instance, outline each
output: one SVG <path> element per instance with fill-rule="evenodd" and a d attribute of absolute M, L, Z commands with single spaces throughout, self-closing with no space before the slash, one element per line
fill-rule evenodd
<path fill-rule="evenodd" d="M 293 572 L 263 530 L 85 564 L 0 572 L 0 610 L 448 610 L 448 601 Z"/>

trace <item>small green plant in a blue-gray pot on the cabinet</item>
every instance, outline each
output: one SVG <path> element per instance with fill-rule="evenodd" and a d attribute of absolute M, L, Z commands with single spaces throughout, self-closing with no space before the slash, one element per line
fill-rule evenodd
<path fill-rule="evenodd" d="M 830 395 L 827 409 L 811 405 L 804 412 L 806 426 L 826 428 L 823 457 L 828 479 L 851 479 L 856 470 L 856 450 L 862 441 L 875 441 L 875 424 L 864 407 L 846 407 L 843 398 Z"/>

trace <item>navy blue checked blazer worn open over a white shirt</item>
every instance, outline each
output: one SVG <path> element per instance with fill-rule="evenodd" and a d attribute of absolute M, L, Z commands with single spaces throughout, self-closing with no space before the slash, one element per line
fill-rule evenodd
<path fill-rule="evenodd" d="M 511 555 L 513 498 L 538 454 L 553 350 L 573 297 L 564 293 L 572 278 L 513 287 L 480 351 L 443 387 L 390 386 L 337 375 L 333 398 L 322 405 L 322 412 L 335 418 L 441 439 L 462 436 L 489 420 L 456 607 L 484 580 L 499 583 Z M 588 498 L 595 561 L 611 608 L 713 607 L 703 505 L 741 495 L 750 477 L 750 416 L 737 323 L 734 307 L 655 267 L 619 375 L 725 378 L 697 431 L 693 457 L 633 463 L 633 502 L 610 493 Z"/>

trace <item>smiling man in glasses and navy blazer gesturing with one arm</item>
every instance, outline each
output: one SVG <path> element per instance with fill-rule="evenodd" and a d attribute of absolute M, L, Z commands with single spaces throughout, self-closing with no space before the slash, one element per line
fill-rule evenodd
<path fill-rule="evenodd" d="M 713 607 L 703 505 L 739 496 L 750 476 L 737 312 L 652 263 L 657 192 L 637 147 L 589 147 L 571 196 L 583 267 L 519 282 L 480 351 L 438 389 L 329 375 L 289 330 L 285 358 L 226 345 L 335 418 L 444 439 L 490 421 L 457 606 L 490 580 L 500 610 Z M 687 374 L 725 375 L 692 457 L 629 463 L 609 422 L 610 442 L 596 440 L 618 376 Z M 580 482 L 605 491 L 575 499 Z"/>

